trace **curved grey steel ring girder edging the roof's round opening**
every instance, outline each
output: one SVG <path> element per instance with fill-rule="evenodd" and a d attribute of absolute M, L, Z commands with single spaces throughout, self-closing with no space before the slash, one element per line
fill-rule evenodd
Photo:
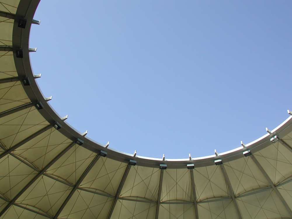
<path fill-rule="evenodd" d="M 26 3 L 24 3 L 26 2 Z M 65 135 L 67 138 L 74 140 L 79 138 L 84 141 L 83 147 L 91 150 L 93 152 L 98 153 L 100 150 L 107 152 L 107 157 L 118 160 L 121 162 L 128 163 L 130 159 L 136 160 L 137 165 L 139 166 L 148 166 L 148 167 L 159 167 L 159 164 L 167 164 L 168 168 L 185 168 L 186 164 L 195 164 L 197 167 L 200 166 L 209 166 L 214 165 L 214 156 L 208 156 L 207 158 L 194 158 L 194 159 L 155 159 L 155 158 L 146 158 L 136 155 L 133 157 L 133 154 L 127 154 L 123 152 L 119 152 L 117 150 L 111 149 L 109 147 L 104 147 L 104 145 L 95 142 L 89 138 L 86 138 L 79 133 L 74 128 L 72 128 L 69 124 L 58 116 L 58 114 L 52 109 L 52 107 L 48 104 L 46 100 L 44 100 L 44 96 L 42 95 L 36 81 L 34 80 L 34 76 L 32 73 L 32 67 L 29 60 L 29 29 L 32 24 L 32 18 L 34 12 L 36 10 L 37 4 L 39 0 L 32 0 L 30 5 L 27 6 L 27 1 L 20 1 L 21 7 L 18 7 L 18 11 L 15 15 L 15 22 L 18 22 L 18 19 L 21 17 L 25 17 L 27 19 L 27 27 L 25 29 L 17 27 L 14 25 L 13 27 L 13 55 L 15 61 L 15 67 L 18 72 L 18 76 L 20 78 L 27 77 L 30 81 L 30 86 L 23 86 L 25 92 L 32 102 L 41 102 L 44 106 L 44 109 L 40 109 L 39 112 L 41 115 L 51 124 L 55 124 L 58 122 L 61 124 L 62 128 L 60 132 Z M 15 54 L 15 49 L 22 48 L 23 49 L 23 58 L 17 58 Z M 272 130 L 271 134 L 266 134 L 259 139 L 246 144 L 248 149 L 256 152 L 260 149 L 263 149 L 270 145 L 270 135 L 286 135 L 292 131 L 292 117 L 286 119 L 280 126 Z M 225 162 L 232 161 L 238 158 L 241 158 L 242 152 L 246 150 L 244 147 L 237 148 L 237 150 L 232 150 L 228 153 L 219 154 L 217 159 L 224 159 Z"/>

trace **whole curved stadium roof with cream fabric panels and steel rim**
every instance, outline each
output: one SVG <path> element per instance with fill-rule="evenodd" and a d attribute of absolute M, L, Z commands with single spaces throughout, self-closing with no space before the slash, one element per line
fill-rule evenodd
<path fill-rule="evenodd" d="M 0 218 L 292 218 L 292 116 L 201 158 L 141 157 L 85 138 L 36 84 L 38 3 L 0 0 Z"/>

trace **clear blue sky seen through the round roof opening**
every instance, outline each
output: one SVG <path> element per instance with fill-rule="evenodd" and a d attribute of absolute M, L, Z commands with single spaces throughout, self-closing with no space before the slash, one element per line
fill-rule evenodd
<path fill-rule="evenodd" d="M 34 18 L 41 90 L 117 150 L 224 152 L 292 109 L 292 1 L 42 0 Z"/>

